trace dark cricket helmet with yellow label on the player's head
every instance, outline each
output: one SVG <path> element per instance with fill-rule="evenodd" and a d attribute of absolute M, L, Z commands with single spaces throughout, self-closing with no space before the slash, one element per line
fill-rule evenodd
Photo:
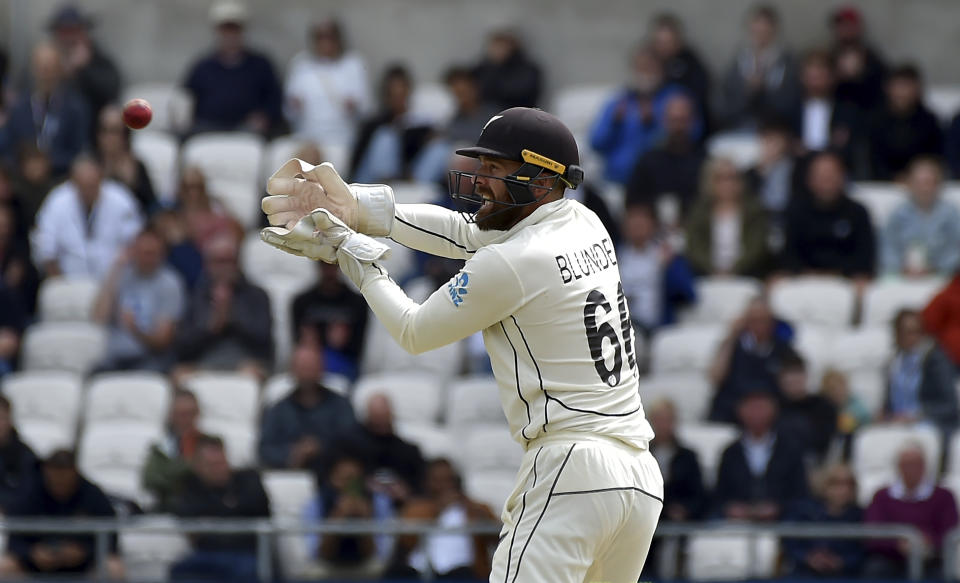
<path fill-rule="evenodd" d="M 576 139 L 562 121 L 542 109 L 501 111 L 483 126 L 475 146 L 460 148 L 457 154 L 526 162 L 556 172 L 571 183 L 583 181 Z"/>

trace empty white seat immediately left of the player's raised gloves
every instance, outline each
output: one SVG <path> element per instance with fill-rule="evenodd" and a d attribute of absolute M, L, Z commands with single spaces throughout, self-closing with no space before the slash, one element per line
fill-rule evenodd
<path fill-rule="evenodd" d="M 207 186 L 217 199 L 247 228 L 260 219 L 260 163 L 263 140 L 252 134 L 209 133 L 187 140 L 183 165 L 203 170 Z"/>

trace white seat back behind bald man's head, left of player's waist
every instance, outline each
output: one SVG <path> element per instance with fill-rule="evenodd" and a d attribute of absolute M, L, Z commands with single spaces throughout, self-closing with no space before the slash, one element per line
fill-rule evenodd
<path fill-rule="evenodd" d="M 397 421 L 436 423 L 445 402 L 443 385 L 433 375 L 367 375 L 357 381 L 353 391 L 353 410 L 358 419 L 367 417 L 367 401 L 377 393 L 389 397 Z"/>

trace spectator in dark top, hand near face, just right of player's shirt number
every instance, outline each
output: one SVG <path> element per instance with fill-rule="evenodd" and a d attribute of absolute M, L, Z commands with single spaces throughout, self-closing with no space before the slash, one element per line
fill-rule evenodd
<path fill-rule="evenodd" d="M 767 300 L 751 301 L 730 326 L 710 365 L 710 381 L 716 387 L 710 420 L 735 422 L 737 403 L 748 391 L 763 389 L 776 396 L 781 363 L 795 356 L 790 343 L 777 334 Z"/>

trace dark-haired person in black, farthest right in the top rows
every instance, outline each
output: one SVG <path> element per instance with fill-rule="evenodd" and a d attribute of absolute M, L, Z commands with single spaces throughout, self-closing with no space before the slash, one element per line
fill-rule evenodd
<path fill-rule="evenodd" d="M 943 154 L 940 122 L 923 104 L 919 69 L 901 65 L 891 71 L 886 96 L 867 127 L 872 180 L 899 179 L 917 156 Z"/>

